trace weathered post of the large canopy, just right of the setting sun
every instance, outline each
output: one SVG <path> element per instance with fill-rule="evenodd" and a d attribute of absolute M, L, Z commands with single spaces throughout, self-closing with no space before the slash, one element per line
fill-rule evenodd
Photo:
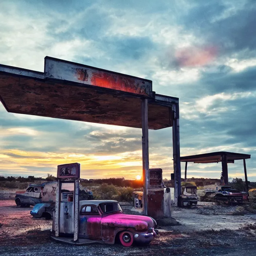
<path fill-rule="evenodd" d="M 149 152 L 148 152 L 148 99 L 142 99 L 141 102 L 142 118 L 142 163 L 143 163 L 143 210 L 148 215 L 148 184 L 149 184 Z"/>

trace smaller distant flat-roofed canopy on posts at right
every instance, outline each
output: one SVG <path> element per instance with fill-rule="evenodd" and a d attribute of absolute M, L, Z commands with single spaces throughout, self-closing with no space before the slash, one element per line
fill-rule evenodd
<path fill-rule="evenodd" d="M 180 157 L 180 161 L 185 162 L 185 180 L 187 180 L 188 162 L 199 163 L 199 164 L 221 162 L 222 172 L 221 172 L 220 180 L 223 185 L 228 185 L 228 163 L 235 163 L 235 160 L 243 160 L 245 184 L 248 191 L 248 180 L 247 180 L 247 170 L 246 170 L 245 159 L 250 159 L 250 158 L 251 158 L 251 155 L 247 155 L 247 154 L 220 151 L 220 152 L 211 152 L 211 153 L 192 155 L 192 156 L 182 156 Z"/>

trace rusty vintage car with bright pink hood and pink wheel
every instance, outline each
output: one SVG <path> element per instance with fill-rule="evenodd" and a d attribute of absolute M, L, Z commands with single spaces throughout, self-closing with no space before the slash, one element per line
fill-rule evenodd
<path fill-rule="evenodd" d="M 133 243 L 149 244 L 156 236 L 153 220 L 148 216 L 124 214 L 118 201 L 82 200 L 79 202 L 79 238 L 126 247 Z M 65 215 L 60 219 L 64 223 Z M 53 215 L 53 232 L 55 215 Z"/>

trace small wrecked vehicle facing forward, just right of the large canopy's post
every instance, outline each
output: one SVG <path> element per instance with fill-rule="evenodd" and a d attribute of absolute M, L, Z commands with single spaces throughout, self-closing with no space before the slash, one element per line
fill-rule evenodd
<path fill-rule="evenodd" d="M 179 206 L 192 206 L 197 205 L 197 187 L 196 186 L 183 186 L 181 187 L 181 195 L 179 198 Z"/>

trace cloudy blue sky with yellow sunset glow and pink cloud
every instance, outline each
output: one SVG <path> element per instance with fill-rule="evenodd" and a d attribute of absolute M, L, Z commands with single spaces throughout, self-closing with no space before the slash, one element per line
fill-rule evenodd
<path fill-rule="evenodd" d="M 43 72 L 52 56 L 150 79 L 153 91 L 180 99 L 182 156 L 251 154 L 248 179 L 256 181 L 255 24 L 255 0 L 1 0 L 0 63 Z M 57 164 L 74 161 L 87 179 L 142 173 L 140 129 L 3 105 L 0 129 L 0 175 L 56 175 Z M 171 128 L 149 136 L 150 167 L 169 179 Z M 188 165 L 188 177 L 220 172 L 220 163 Z M 229 176 L 244 178 L 242 161 L 229 164 Z"/>

